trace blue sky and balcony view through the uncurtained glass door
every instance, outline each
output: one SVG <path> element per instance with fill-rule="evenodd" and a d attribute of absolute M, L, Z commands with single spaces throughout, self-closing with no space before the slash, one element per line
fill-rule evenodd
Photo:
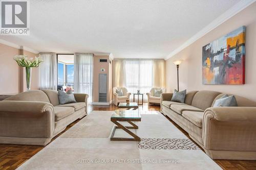
<path fill-rule="evenodd" d="M 74 55 L 58 54 L 58 89 L 74 91 Z"/>

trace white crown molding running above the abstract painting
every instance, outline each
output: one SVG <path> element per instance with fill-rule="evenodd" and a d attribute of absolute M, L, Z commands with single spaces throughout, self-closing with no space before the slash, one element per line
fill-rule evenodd
<path fill-rule="evenodd" d="M 198 40 L 199 38 L 201 38 L 205 34 L 214 30 L 215 28 L 220 26 L 223 22 L 225 22 L 226 20 L 228 20 L 232 16 L 236 15 L 237 13 L 239 13 L 240 11 L 242 11 L 243 9 L 245 9 L 246 7 L 248 7 L 249 5 L 251 5 L 254 2 L 256 2 L 256 0 L 241 0 L 236 5 L 234 5 L 230 9 L 228 9 L 226 12 L 221 14 L 219 17 L 217 17 L 215 20 L 210 22 L 206 27 L 204 27 L 202 30 L 200 30 L 198 33 L 196 33 L 194 36 L 189 38 L 181 46 L 176 48 L 172 53 L 170 53 L 167 57 L 165 57 L 164 60 L 167 60 L 167 59 L 173 57 L 174 55 L 176 55 L 177 53 L 182 51 L 184 48 L 186 48 L 187 46 L 189 46 L 190 44 L 192 44 L 193 42 L 195 42 L 196 40 Z"/>

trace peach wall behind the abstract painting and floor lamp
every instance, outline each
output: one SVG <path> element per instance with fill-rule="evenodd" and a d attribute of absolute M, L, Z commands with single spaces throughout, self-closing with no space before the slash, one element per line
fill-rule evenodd
<path fill-rule="evenodd" d="M 246 26 L 245 42 L 245 84 L 244 85 L 203 85 L 202 84 L 202 47 L 212 40 Z M 220 26 L 190 44 L 175 56 L 165 61 L 166 90 L 177 88 L 177 68 L 173 63 L 182 59 L 179 68 L 180 90 L 215 90 L 244 96 L 256 101 L 256 3 L 248 6 Z"/>

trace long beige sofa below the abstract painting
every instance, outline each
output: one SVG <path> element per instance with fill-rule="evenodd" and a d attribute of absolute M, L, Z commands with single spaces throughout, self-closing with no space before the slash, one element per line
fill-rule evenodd
<path fill-rule="evenodd" d="M 256 102 L 234 95 L 238 107 L 211 107 L 224 93 L 190 91 L 185 104 L 161 95 L 161 112 L 174 120 L 212 159 L 256 160 Z"/>

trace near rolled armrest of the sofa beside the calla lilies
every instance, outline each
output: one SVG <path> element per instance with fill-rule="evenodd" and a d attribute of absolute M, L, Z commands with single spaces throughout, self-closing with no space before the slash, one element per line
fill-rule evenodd
<path fill-rule="evenodd" d="M 54 107 L 46 102 L 1 101 L 0 136 L 50 138 Z"/>

